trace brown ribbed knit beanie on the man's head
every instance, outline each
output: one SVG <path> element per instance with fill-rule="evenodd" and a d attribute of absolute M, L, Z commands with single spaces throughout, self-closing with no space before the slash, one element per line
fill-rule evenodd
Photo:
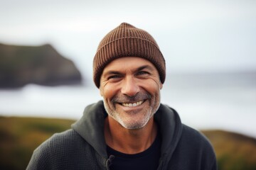
<path fill-rule="evenodd" d="M 119 57 L 142 57 L 149 60 L 159 72 L 161 83 L 166 77 L 163 55 L 154 38 L 145 30 L 122 23 L 100 42 L 93 60 L 93 80 L 100 87 L 100 77 L 107 64 Z"/>

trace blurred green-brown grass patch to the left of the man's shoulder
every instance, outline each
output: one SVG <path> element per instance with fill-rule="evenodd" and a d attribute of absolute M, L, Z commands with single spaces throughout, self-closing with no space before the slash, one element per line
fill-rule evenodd
<path fill-rule="evenodd" d="M 26 169 L 33 150 L 75 120 L 0 117 L 0 169 Z"/>

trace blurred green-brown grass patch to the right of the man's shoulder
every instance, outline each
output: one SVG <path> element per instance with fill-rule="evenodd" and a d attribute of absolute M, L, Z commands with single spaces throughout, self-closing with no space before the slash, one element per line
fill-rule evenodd
<path fill-rule="evenodd" d="M 202 131 L 213 144 L 218 170 L 255 170 L 256 140 L 222 130 Z"/>

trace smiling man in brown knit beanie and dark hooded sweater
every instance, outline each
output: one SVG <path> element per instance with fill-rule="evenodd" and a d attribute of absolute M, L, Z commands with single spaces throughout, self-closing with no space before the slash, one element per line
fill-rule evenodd
<path fill-rule="evenodd" d="M 165 77 L 149 33 L 128 23 L 114 28 L 93 61 L 103 101 L 39 146 L 27 169 L 216 169 L 206 137 L 160 103 Z"/>

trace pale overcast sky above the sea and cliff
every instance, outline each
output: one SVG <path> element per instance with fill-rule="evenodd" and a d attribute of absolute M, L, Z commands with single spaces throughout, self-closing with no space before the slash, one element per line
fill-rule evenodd
<path fill-rule="evenodd" d="M 167 72 L 256 69 L 254 0 L 0 0 L 0 42 L 50 43 L 86 76 L 98 43 L 122 22 L 153 35 Z"/>

